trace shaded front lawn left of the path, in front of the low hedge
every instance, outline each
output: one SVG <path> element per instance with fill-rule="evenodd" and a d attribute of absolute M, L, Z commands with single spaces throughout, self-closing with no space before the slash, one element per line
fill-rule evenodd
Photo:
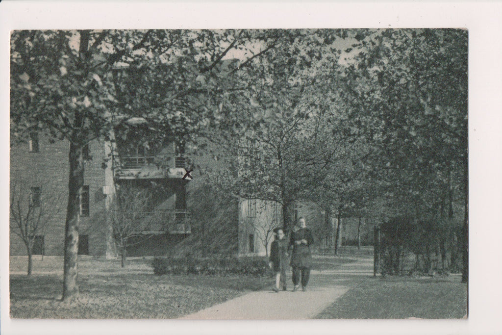
<path fill-rule="evenodd" d="M 11 275 L 13 318 L 174 318 L 272 284 L 268 278 L 79 275 L 79 297 L 61 303 L 62 280 Z"/>

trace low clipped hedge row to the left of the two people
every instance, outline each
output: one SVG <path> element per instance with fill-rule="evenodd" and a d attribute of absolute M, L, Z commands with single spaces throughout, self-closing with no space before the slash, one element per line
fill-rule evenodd
<path fill-rule="evenodd" d="M 211 256 L 202 258 L 186 254 L 180 257 L 155 258 L 152 267 L 154 274 L 158 276 L 165 274 L 195 274 L 264 277 L 270 275 L 265 257 Z"/>

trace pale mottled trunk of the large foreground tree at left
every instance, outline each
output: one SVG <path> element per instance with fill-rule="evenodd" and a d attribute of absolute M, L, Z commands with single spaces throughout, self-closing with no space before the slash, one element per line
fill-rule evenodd
<path fill-rule="evenodd" d="M 81 146 L 70 143 L 70 177 L 68 181 L 68 208 L 65 222 L 63 301 L 71 302 L 78 294 L 77 254 L 80 191 L 84 183 Z"/>

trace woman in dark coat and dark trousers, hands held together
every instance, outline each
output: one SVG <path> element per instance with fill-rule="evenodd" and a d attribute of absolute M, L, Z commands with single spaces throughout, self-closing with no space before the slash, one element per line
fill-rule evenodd
<path fill-rule="evenodd" d="M 293 291 L 298 290 L 300 278 L 303 291 L 307 290 L 309 283 L 310 268 L 312 267 L 312 255 L 310 254 L 310 245 L 314 243 L 312 233 L 307 228 L 305 217 L 298 219 L 297 226 L 291 232 L 288 251 L 291 253 L 291 266 L 293 267 Z"/>

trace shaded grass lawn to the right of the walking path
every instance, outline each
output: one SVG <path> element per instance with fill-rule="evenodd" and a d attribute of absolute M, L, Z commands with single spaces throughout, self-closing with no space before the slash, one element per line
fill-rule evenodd
<path fill-rule="evenodd" d="M 467 314 L 467 284 L 446 278 L 367 278 L 317 318 L 462 318 Z"/>

